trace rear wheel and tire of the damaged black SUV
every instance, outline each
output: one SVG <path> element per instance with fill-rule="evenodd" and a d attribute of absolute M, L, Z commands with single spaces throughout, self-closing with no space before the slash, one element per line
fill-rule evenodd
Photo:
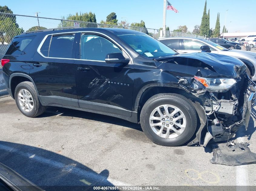
<path fill-rule="evenodd" d="M 15 88 L 14 96 L 16 105 L 23 115 L 36 117 L 45 112 L 46 107 L 39 102 L 38 94 L 32 82 L 19 83 Z"/>

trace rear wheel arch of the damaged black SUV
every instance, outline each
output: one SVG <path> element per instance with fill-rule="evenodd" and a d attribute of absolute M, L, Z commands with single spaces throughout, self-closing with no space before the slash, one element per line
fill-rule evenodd
<path fill-rule="evenodd" d="M 33 79 L 29 75 L 23 74 L 23 73 L 14 73 L 9 78 L 9 88 L 10 88 L 10 90 L 12 92 L 11 96 L 12 96 L 13 99 L 15 99 L 14 92 L 15 92 L 16 86 L 19 83 L 23 82 L 23 81 L 30 81 L 30 82 L 32 82 L 34 87 L 35 87 L 35 91 L 38 94 L 37 88 L 35 86 L 35 82 L 33 81 Z"/>

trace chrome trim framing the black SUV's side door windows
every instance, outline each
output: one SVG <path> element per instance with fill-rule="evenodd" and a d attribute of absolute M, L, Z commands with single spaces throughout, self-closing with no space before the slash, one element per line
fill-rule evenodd
<path fill-rule="evenodd" d="M 93 61 L 93 62 L 105 62 L 105 61 L 102 61 L 102 60 L 86 60 L 86 59 L 76 59 L 76 58 L 57 58 L 57 57 L 48 57 L 48 56 L 44 56 L 40 49 L 42 48 L 43 46 L 43 43 L 45 42 L 46 38 L 50 35 L 56 35 L 56 34 L 68 34 L 68 33 L 96 33 L 96 34 L 101 34 L 105 37 L 107 37 L 108 39 L 112 40 L 115 44 L 117 44 L 121 49 L 122 51 L 124 51 L 129 59 L 131 60 L 131 64 L 133 64 L 133 60 L 131 59 L 131 56 L 128 54 L 128 52 L 122 48 L 122 46 L 120 44 L 118 44 L 115 40 L 113 40 L 112 38 L 110 38 L 109 36 L 105 35 L 104 33 L 100 33 L 100 32 L 96 32 L 96 31 L 73 31 L 73 32 L 62 32 L 62 33 L 50 33 L 50 34 L 47 34 L 45 35 L 45 37 L 43 38 L 42 42 L 39 44 L 38 48 L 37 48 L 37 52 L 44 58 L 52 58 L 52 59 L 67 59 L 67 60 L 84 60 L 84 61 Z M 80 41 L 81 41 L 81 38 L 80 38 Z M 49 44 L 49 49 L 50 49 L 50 46 L 51 44 Z M 49 54 L 48 54 L 49 55 Z"/>

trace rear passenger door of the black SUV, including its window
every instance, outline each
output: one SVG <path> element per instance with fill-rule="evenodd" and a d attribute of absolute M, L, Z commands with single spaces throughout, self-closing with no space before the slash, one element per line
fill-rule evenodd
<path fill-rule="evenodd" d="M 74 39 L 75 33 L 52 34 L 38 47 L 30 76 L 42 102 L 78 107 Z"/>

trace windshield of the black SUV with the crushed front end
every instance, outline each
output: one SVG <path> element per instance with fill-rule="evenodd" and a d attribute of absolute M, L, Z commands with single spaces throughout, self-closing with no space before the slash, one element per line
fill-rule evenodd
<path fill-rule="evenodd" d="M 120 34 L 118 37 L 146 58 L 160 58 L 177 54 L 168 46 L 147 34 Z"/>

